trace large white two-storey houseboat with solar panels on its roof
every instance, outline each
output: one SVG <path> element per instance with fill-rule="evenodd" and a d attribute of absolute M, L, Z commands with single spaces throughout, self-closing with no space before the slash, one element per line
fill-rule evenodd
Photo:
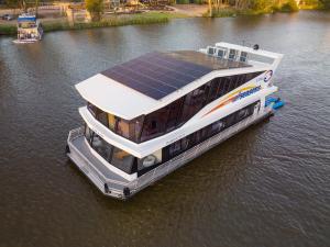
<path fill-rule="evenodd" d="M 152 52 L 76 85 L 85 125 L 67 155 L 106 195 L 128 199 L 273 114 L 282 54 L 217 43 Z"/>

